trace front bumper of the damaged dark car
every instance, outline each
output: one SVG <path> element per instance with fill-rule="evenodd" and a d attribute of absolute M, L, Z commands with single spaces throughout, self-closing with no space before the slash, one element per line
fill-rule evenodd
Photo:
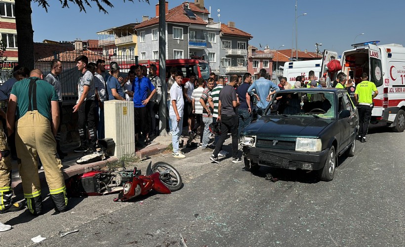
<path fill-rule="evenodd" d="M 325 165 L 329 148 L 321 152 L 298 152 L 243 146 L 243 156 L 258 165 L 285 169 L 319 170 Z"/>

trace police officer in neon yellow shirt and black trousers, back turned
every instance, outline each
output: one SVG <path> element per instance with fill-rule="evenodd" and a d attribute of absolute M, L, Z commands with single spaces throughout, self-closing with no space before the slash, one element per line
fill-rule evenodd
<path fill-rule="evenodd" d="M 367 134 L 368 124 L 370 123 L 373 98 L 378 95 L 375 84 L 367 81 L 367 79 L 367 73 L 363 73 L 362 82 L 357 85 L 355 91 L 355 99 L 357 102 L 359 102 L 358 109 L 360 127 L 358 139 L 360 139 L 361 142 L 366 142 L 365 135 Z"/>

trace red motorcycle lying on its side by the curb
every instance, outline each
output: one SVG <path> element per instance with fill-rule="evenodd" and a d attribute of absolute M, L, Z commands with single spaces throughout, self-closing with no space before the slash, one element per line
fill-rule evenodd
<path fill-rule="evenodd" d="M 100 196 L 120 192 L 115 202 L 127 201 L 151 190 L 170 194 L 183 185 L 179 172 L 171 165 L 149 163 L 146 175 L 136 167 L 132 170 L 93 170 L 73 176 L 66 183 L 68 193 L 73 197 Z"/>

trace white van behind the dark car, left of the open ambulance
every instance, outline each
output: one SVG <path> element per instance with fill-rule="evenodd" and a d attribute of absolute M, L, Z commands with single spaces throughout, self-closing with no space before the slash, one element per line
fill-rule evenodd
<path fill-rule="evenodd" d="M 318 81 L 321 76 L 321 65 L 322 59 L 285 62 L 283 77 L 286 77 L 287 82 L 293 86 L 297 76 L 305 77 L 305 81 L 309 81 L 308 73 L 313 70 L 315 72 L 315 80 Z"/>

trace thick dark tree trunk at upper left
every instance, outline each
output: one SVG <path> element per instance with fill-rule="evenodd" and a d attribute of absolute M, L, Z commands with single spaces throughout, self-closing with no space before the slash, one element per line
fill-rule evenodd
<path fill-rule="evenodd" d="M 18 64 L 34 69 L 34 31 L 31 22 L 31 0 L 15 1 L 17 26 Z"/>

